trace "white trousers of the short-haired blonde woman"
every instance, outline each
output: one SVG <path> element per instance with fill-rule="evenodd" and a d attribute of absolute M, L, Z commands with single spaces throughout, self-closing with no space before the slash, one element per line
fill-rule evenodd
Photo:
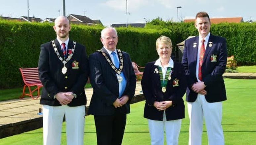
<path fill-rule="evenodd" d="M 151 145 L 164 144 L 164 128 L 167 145 L 178 145 L 181 130 L 181 119 L 166 121 L 166 115 L 164 112 L 163 121 L 148 119 L 148 124 Z"/>

